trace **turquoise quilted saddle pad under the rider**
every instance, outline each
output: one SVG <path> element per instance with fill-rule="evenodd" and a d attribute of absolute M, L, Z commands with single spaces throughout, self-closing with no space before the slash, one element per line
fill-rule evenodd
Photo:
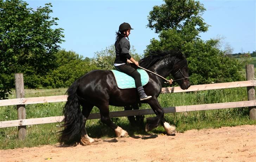
<path fill-rule="evenodd" d="M 115 76 L 118 88 L 120 89 L 136 88 L 135 81 L 132 76 L 129 76 L 117 70 L 111 70 L 111 71 Z M 137 69 L 137 71 L 140 73 L 142 86 L 145 86 L 149 81 L 148 73 L 143 69 Z"/>

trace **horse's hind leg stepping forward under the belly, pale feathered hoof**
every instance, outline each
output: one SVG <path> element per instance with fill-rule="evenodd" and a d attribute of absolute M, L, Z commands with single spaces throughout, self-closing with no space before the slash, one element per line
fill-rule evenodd
<path fill-rule="evenodd" d="M 100 109 L 100 114 L 101 114 L 101 121 L 104 124 L 107 124 L 111 129 L 115 130 L 116 137 L 127 137 L 129 136 L 127 131 L 123 130 L 121 127 L 116 126 L 109 117 L 109 107 L 108 103 L 104 103 L 98 108 Z"/>

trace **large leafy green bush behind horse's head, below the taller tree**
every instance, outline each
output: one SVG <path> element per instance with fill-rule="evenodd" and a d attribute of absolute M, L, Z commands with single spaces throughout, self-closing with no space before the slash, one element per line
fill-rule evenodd
<path fill-rule="evenodd" d="M 241 81 L 244 79 L 239 72 L 242 66 L 238 60 L 224 55 L 222 51 L 215 48 L 218 40 L 203 41 L 200 38 L 195 38 L 186 41 L 186 36 L 174 29 L 162 31 L 159 35 L 160 40 L 151 40 L 151 44 L 145 50 L 145 55 L 156 49 L 181 50 L 188 61 L 192 85 Z"/>

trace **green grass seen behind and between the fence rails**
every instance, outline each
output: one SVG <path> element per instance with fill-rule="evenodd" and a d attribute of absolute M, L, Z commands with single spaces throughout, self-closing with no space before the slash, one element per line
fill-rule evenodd
<path fill-rule="evenodd" d="M 64 95 L 66 89 L 26 89 L 26 97 Z M 14 95 L 10 98 L 15 98 Z M 187 93 L 161 94 L 158 100 L 162 107 L 184 106 L 207 103 L 247 101 L 247 90 L 243 88 L 218 89 Z M 65 102 L 41 103 L 26 105 L 27 119 L 62 115 Z M 142 104 L 140 109 L 149 108 L 148 104 Z M 122 107 L 110 106 L 110 111 L 121 111 Z M 96 107 L 92 113 L 98 113 Z M 219 128 L 223 126 L 237 126 L 243 124 L 256 124 L 248 116 L 248 108 L 230 108 L 219 110 L 205 110 L 183 113 L 165 114 L 165 119 L 177 127 L 177 131 L 184 132 L 189 129 Z M 146 115 L 146 117 L 155 115 Z M 0 121 L 17 120 L 16 106 L 0 107 Z M 127 130 L 129 135 L 147 134 L 145 132 L 145 120 L 142 126 L 131 127 L 127 117 L 112 119 L 118 126 Z M 19 141 L 17 127 L 0 129 L 0 149 L 13 149 L 20 147 L 34 147 L 44 144 L 58 143 L 58 123 L 38 124 L 27 126 L 25 141 Z M 100 120 L 88 120 L 87 131 L 89 136 L 96 138 L 114 137 L 114 131 L 101 123 Z M 149 133 L 164 133 L 164 128 L 159 126 Z"/>

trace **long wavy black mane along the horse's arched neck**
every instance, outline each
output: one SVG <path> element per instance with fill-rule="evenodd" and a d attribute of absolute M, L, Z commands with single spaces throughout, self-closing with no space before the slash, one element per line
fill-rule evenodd
<path fill-rule="evenodd" d="M 172 56 L 176 56 L 177 58 L 184 60 L 185 56 L 179 50 L 157 50 L 151 52 L 148 56 L 141 59 L 139 61 L 139 65 L 143 68 L 152 67 L 156 62 L 167 59 Z"/>

